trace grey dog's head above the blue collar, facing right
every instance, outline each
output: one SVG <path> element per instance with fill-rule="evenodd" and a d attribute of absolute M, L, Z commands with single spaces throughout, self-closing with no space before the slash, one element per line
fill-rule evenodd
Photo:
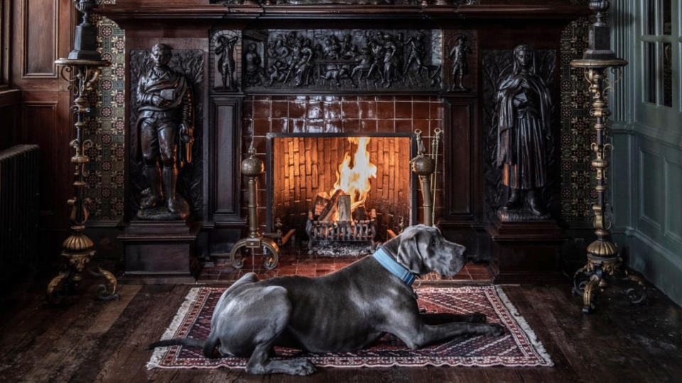
<path fill-rule="evenodd" d="M 398 238 L 400 244 L 396 260 L 413 274 L 435 271 L 444 277 L 452 277 L 467 262 L 466 248 L 443 238 L 438 228 L 410 226 Z"/>

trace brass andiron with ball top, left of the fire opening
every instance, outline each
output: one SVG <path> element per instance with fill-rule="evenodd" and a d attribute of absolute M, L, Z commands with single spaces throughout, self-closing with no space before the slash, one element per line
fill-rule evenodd
<path fill-rule="evenodd" d="M 256 194 L 256 183 L 259 174 L 264 172 L 263 161 L 256 158 L 256 148 L 251 141 L 249 146 L 249 157 L 242 161 L 242 174 L 249 178 L 249 236 L 242 238 L 229 252 L 229 260 L 232 262 L 232 267 L 241 269 L 244 264 L 242 257 L 237 257 L 237 252 L 242 249 L 251 249 L 252 252 L 262 249 L 264 252 L 263 265 L 267 270 L 272 270 L 279 262 L 279 247 L 270 238 L 264 237 L 258 230 L 258 195 Z M 269 250 L 268 255 L 266 250 Z"/>

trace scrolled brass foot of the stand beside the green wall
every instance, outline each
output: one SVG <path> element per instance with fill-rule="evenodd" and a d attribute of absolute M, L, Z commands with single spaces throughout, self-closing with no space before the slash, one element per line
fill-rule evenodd
<path fill-rule="evenodd" d="M 600 257 L 588 253 L 587 265 L 573 274 L 573 294 L 583 296 L 583 313 L 590 313 L 596 308 L 595 294 L 609 286 L 622 289 L 632 304 L 646 300 L 644 281 L 622 267 L 622 263 L 622 258 L 617 255 Z"/>

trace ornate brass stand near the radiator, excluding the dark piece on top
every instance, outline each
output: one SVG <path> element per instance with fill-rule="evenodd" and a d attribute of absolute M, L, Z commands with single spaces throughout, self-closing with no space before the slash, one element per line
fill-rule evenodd
<path fill-rule="evenodd" d="M 72 83 L 70 87 L 75 92 L 72 111 L 76 116 L 76 138 L 70 143 L 75 149 L 75 155 L 71 157 L 71 163 L 75 167 L 75 181 L 73 182 L 75 196 L 68 201 L 71 206 L 72 234 L 62 243 L 61 255 L 65 260 L 63 270 L 48 284 L 48 299 L 51 302 L 58 303 L 63 298 L 63 292 L 67 287 L 80 282 L 82 271 L 85 270 L 86 265 L 90 263 L 95 253 L 94 243 L 83 233 L 88 217 L 87 200 L 83 197 L 83 187 L 86 186 L 83 180 L 83 171 L 85 164 L 89 161 L 85 155 L 85 149 L 92 145 L 90 140 L 83 138 L 85 114 L 90 113 L 90 105 L 85 94 L 87 91 L 92 91 L 92 84 L 97 82 L 99 68 L 108 67 L 109 62 L 106 60 L 60 59 L 55 61 L 55 64 L 62 65 L 61 76 Z M 72 77 L 68 78 L 68 74 L 72 74 Z M 114 274 L 102 269 L 102 267 L 98 267 L 98 270 L 99 272 L 89 271 L 98 277 L 105 277 L 107 285 L 99 285 L 97 298 L 118 299 L 119 295 L 116 294 L 117 280 Z"/>

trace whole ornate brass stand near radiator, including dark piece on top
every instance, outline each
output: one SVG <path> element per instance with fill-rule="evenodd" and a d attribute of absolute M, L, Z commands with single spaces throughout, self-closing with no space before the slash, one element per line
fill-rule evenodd
<path fill-rule="evenodd" d="M 80 0 L 75 6 L 83 13 L 83 21 L 76 27 L 74 50 L 70 52 L 68 58 L 55 61 L 55 65 L 61 66 L 60 76 L 70 82 L 69 89 L 75 97 L 71 110 L 76 116 L 76 138 L 70 143 L 70 146 L 75 149 L 75 155 L 71 157 L 71 163 L 75 167 L 75 180 L 73 182 L 75 196 L 68 200 L 68 204 L 71 206 L 72 233 L 62 243 L 63 270 L 48 284 L 47 297 L 51 303 L 59 303 L 65 292 L 82 280 L 81 273 L 95 254 L 92 239 L 84 233 L 85 222 L 89 215 L 87 211 L 88 199 L 83 196 L 83 188 L 87 186 L 83 179 L 85 164 L 89 162 L 89 158 L 85 155 L 85 149 L 92 145 L 92 142 L 84 139 L 83 127 L 86 125 L 87 113 L 90 113 L 87 92 L 92 91 L 93 85 L 99 79 L 99 68 L 108 67 L 110 63 L 107 60 L 102 60 L 99 52 L 97 52 L 97 41 L 95 40 L 97 27 L 88 21 L 88 13 L 97 8 L 97 3 L 92 0 Z M 119 299 L 119 294 L 116 294 L 117 279 L 114 274 L 102 269 L 102 267 L 98 267 L 97 270 L 98 272 L 90 269 L 88 271 L 94 276 L 107 279 L 106 286 L 104 284 L 99 285 L 97 298 L 102 300 Z"/>

